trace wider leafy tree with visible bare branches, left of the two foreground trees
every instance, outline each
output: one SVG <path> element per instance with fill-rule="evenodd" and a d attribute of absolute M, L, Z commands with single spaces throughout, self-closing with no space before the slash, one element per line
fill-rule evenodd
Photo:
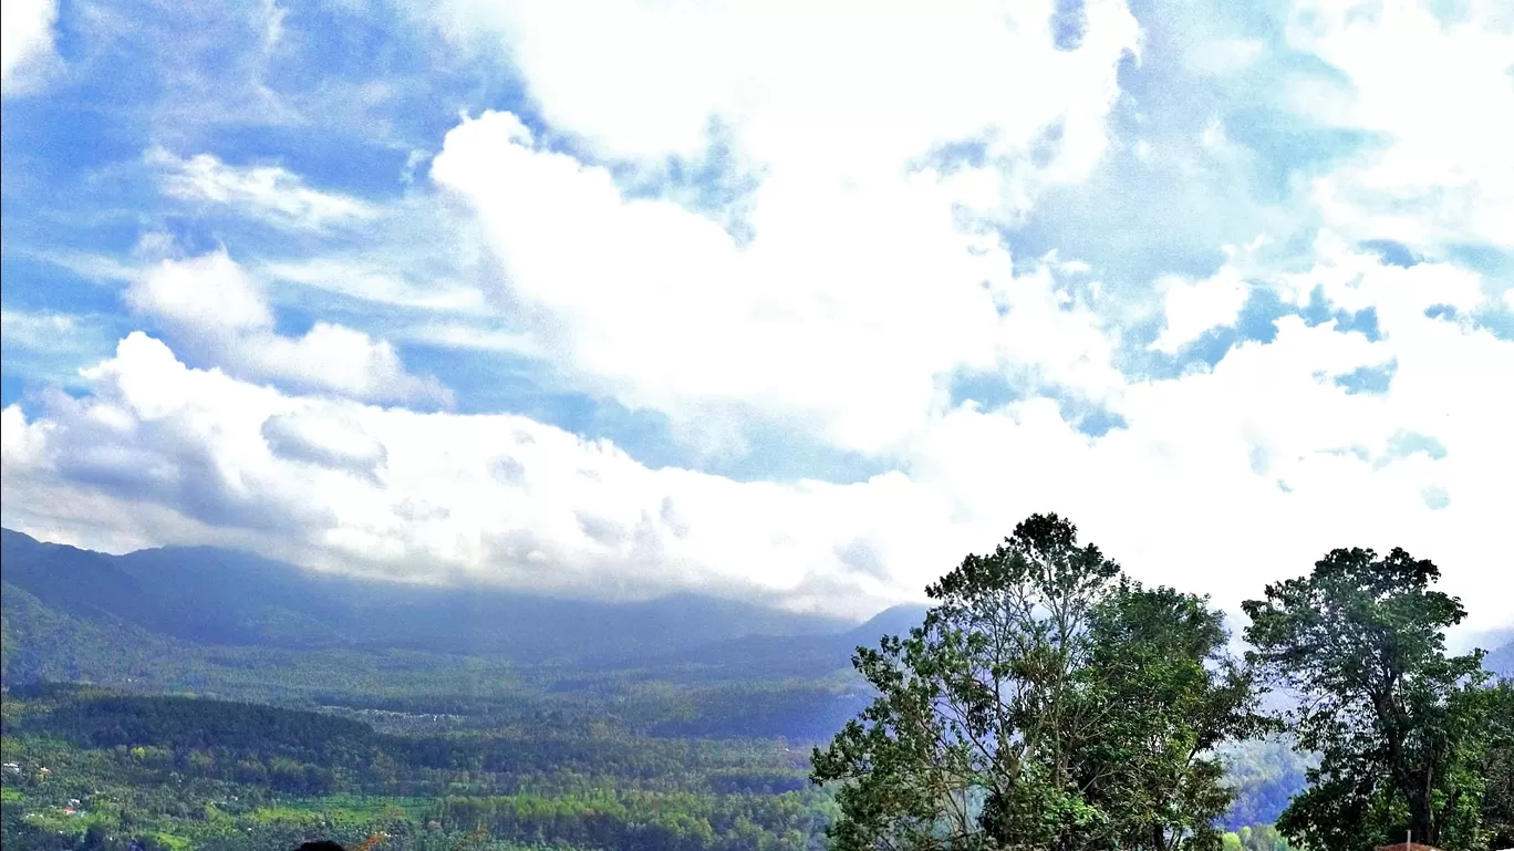
<path fill-rule="evenodd" d="M 1255 716 L 1219 613 L 1123 580 L 1057 515 L 927 594 L 921 627 L 857 648 L 877 698 L 813 754 L 839 849 L 1220 846 L 1208 750 Z"/>

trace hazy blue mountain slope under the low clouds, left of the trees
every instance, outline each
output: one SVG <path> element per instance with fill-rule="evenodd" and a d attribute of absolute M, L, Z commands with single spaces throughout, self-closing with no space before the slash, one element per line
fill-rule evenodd
<path fill-rule="evenodd" d="M 6 584 L 92 624 L 195 644 L 369 647 L 619 665 L 745 636 L 837 633 L 845 621 L 695 595 L 592 603 L 488 588 L 438 589 L 327 577 L 215 548 L 107 556 L 0 533 Z M 12 612 L 6 595 L 8 619 Z"/>

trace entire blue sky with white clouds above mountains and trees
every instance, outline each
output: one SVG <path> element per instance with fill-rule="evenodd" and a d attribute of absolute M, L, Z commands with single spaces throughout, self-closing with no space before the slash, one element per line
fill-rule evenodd
<path fill-rule="evenodd" d="M 1514 625 L 1502 0 L 5 0 L 0 519 L 866 616 L 1036 512 Z"/>

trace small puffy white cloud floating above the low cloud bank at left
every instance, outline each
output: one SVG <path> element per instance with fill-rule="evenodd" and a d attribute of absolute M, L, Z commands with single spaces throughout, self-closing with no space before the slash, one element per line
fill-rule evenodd
<path fill-rule="evenodd" d="M 451 401 L 435 379 L 407 373 L 388 341 L 324 321 L 297 338 L 277 333 L 262 288 L 224 251 L 144 270 L 126 303 L 238 376 L 371 401 Z"/>

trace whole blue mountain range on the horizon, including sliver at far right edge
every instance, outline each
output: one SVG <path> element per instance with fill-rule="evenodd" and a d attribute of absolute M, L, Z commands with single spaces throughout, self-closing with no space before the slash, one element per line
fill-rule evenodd
<path fill-rule="evenodd" d="M 699 669 L 721 678 L 815 678 L 852 650 L 921 622 L 922 606 L 855 625 L 692 594 L 640 603 L 560 600 L 495 588 L 430 588 L 307 571 L 247 553 L 170 547 L 109 556 L 0 530 L 6 659 L 53 633 L 107 630 L 114 644 L 375 650 L 486 656 L 606 671 Z M 1487 668 L 1514 677 L 1514 644 Z M 8 669 L 9 669 L 8 663 Z"/>

